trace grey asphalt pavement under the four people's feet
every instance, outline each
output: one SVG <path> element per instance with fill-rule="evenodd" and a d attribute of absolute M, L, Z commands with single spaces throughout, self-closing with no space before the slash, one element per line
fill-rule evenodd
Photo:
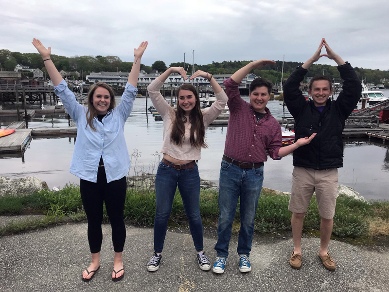
<path fill-rule="evenodd" d="M 185 227 L 184 227 L 185 229 Z M 319 239 L 303 238 L 301 270 L 289 266 L 292 239 L 256 237 L 250 260 L 252 271 L 239 272 L 237 240 L 230 243 L 226 272 L 214 274 L 198 268 L 189 232 L 168 231 L 159 271 L 147 272 L 153 253 L 153 229 L 127 226 L 124 279 L 112 282 L 113 247 L 110 226 L 103 225 L 101 267 L 92 281 L 81 281 L 90 254 L 87 224 L 66 224 L 14 236 L 0 237 L 0 291 L 389 291 L 389 251 L 358 247 L 331 240 L 336 272 L 324 269 L 317 256 Z M 212 233 L 213 234 L 213 233 Z M 204 250 L 213 261 L 215 235 L 204 237 Z"/>

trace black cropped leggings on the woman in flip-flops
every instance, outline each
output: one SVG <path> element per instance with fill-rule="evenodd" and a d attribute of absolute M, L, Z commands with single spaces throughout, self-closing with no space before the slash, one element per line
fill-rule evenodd
<path fill-rule="evenodd" d="M 106 203 L 106 213 L 111 222 L 113 249 L 116 253 L 123 252 L 125 241 L 123 210 L 126 189 L 125 177 L 107 183 L 104 167 L 99 167 L 96 183 L 81 179 L 81 200 L 88 218 L 88 241 L 92 254 L 100 252 L 103 241 L 101 230 L 103 202 Z"/>

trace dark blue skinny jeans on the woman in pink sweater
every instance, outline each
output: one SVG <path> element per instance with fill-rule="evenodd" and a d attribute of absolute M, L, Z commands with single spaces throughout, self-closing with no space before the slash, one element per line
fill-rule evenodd
<path fill-rule="evenodd" d="M 154 251 L 162 252 L 177 185 L 189 220 L 195 249 L 201 252 L 204 248 L 203 223 L 200 217 L 200 176 L 197 164 L 191 169 L 176 170 L 163 162 L 159 163 L 155 178 L 157 209 L 154 220 Z"/>

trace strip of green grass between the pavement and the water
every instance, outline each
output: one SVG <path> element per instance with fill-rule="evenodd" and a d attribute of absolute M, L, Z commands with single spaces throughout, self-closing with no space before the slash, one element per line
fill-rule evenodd
<path fill-rule="evenodd" d="M 255 230 L 260 233 L 290 231 L 292 213 L 288 211 L 288 203 L 288 196 L 274 195 L 263 191 L 255 216 Z M 125 199 L 124 219 L 128 223 L 150 227 L 154 223 L 155 205 L 155 192 L 129 189 Z M 86 220 L 80 189 L 74 184 L 67 185 L 58 192 L 42 190 L 26 197 L 5 196 L 0 198 L 0 215 L 19 215 L 25 209 L 39 211 L 46 216 L 43 219 L 9 223 L 0 228 L 0 235 L 60 224 L 69 220 L 73 222 Z M 216 191 L 200 191 L 200 213 L 204 224 L 217 225 L 219 208 Z M 105 208 L 104 219 L 108 220 Z M 178 189 L 173 201 L 170 220 L 174 224 L 187 224 Z M 235 222 L 235 225 L 239 226 L 239 203 Z M 388 227 L 378 228 L 382 226 L 381 222 L 386 223 L 385 226 L 389 226 L 389 202 L 373 201 L 369 204 L 340 196 L 336 203 L 333 235 L 341 238 L 387 236 Z M 373 225 L 374 231 L 371 231 Z M 308 206 L 304 219 L 304 229 L 310 230 L 312 234 L 316 234 L 320 230 L 320 216 L 315 198 Z"/>

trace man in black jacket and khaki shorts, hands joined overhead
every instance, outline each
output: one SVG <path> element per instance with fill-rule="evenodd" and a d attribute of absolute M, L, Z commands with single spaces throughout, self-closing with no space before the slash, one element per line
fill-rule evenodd
<path fill-rule="evenodd" d="M 325 47 L 327 54 L 321 54 Z M 332 94 L 331 80 L 326 76 L 315 76 L 309 82 L 308 94 L 313 100 L 305 101 L 299 89 L 307 69 L 320 57 L 326 56 L 338 65 L 343 81 L 343 90 L 336 100 L 329 99 Z M 342 131 L 347 117 L 353 112 L 361 96 L 362 85 L 351 65 L 342 60 L 321 39 L 316 53 L 302 66 L 299 66 L 285 82 L 284 100 L 289 112 L 295 119 L 296 140 L 316 132 L 313 141 L 301 146 L 293 153 L 292 193 L 289 210 L 292 215 L 294 250 L 290 257 L 292 268 L 301 267 L 302 223 L 309 201 L 316 191 L 320 226 L 320 250 L 318 256 L 323 265 L 335 271 L 335 261 L 327 252 L 332 234 L 337 196 L 337 168 L 343 166 Z"/>

